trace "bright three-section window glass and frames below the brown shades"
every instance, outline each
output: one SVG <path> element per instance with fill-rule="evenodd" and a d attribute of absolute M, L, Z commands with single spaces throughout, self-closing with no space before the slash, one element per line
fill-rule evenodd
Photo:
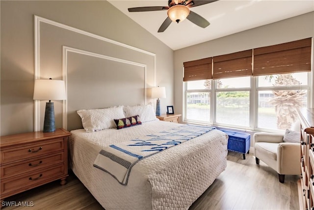
<path fill-rule="evenodd" d="M 310 73 L 298 72 L 186 82 L 184 120 L 285 130 L 298 119 L 297 108 L 307 107 L 309 78 Z"/>

